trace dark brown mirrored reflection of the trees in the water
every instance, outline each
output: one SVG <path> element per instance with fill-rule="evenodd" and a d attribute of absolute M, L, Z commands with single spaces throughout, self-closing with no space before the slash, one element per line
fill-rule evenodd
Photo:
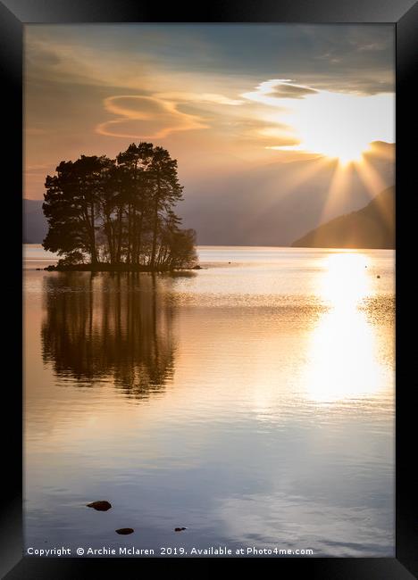
<path fill-rule="evenodd" d="M 174 306 L 149 274 L 65 272 L 44 279 L 42 355 L 61 379 L 111 379 L 130 396 L 163 389 L 174 366 Z"/>

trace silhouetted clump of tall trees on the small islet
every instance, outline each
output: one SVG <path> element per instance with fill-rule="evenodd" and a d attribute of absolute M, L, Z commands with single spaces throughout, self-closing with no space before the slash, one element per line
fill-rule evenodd
<path fill-rule="evenodd" d="M 59 266 L 168 270 L 196 264 L 196 232 L 180 228 L 177 161 L 163 147 L 131 144 L 110 159 L 81 155 L 46 177 L 46 250 Z"/>

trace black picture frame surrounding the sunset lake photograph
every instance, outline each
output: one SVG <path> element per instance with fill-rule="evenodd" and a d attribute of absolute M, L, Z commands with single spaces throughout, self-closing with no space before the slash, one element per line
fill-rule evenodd
<path fill-rule="evenodd" d="M 287 568 L 294 574 L 349 580 L 403 580 L 418 574 L 418 518 L 414 469 L 414 283 L 408 281 L 414 262 L 408 249 L 414 248 L 416 194 L 414 192 L 415 147 L 408 137 L 414 133 L 416 97 L 412 90 L 417 64 L 418 4 L 414 0 L 212 0 L 211 3 L 171 3 L 164 6 L 150 0 L 0 0 L 0 70 L 4 102 L 3 202 L 5 217 L 15 217 L 7 234 L 9 247 L 21 251 L 22 179 L 22 31 L 27 23 L 70 22 L 346 22 L 392 23 L 396 29 L 397 62 L 397 479 L 396 479 L 396 558 L 334 559 L 281 558 L 270 560 L 279 574 Z M 415 123 L 416 125 L 416 123 Z M 6 201 L 7 200 L 7 201 Z M 414 221 L 413 221 L 414 220 Z M 4 230 L 5 231 L 5 230 Z M 20 250 L 18 250 L 18 248 Z M 148 566 L 167 568 L 176 574 L 180 562 L 192 565 L 202 559 L 36 559 L 22 555 L 22 391 L 21 377 L 21 263 L 12 257 L 6 263 L 9 295 L 4 307 L 4 335 L 7 333 L 4 367 L 12 370 L 3 389 L 3 418 L 12 420 L 3 439 L 2 518 L 0 572 L 8 580 L 21 578 L 85 578 L 106 574 L 121 577 L 133 565 L 139 574 Z M 13 280 L 13 283 L 9 281 Z M 416 299 L 416 298 L 415 298 Z M 9 308 L 16 302 L 16 309 Z M 405 329 L 405 330 L 404 330 Z M 9 339 L 10 336 L 10 339 Z M 411 378 L 409 375 L 411 374 Z M 4 420 L 3 420 L 4 423 Z M 210 571 L 217 559 L 205 559 Z M 242 560 L 240 560 L 242 561 Z M 259 569 L 266 559 L 245 559 L 248 573 Z M 238 564 L 234 560 L 233 564 Z M 254 567 L 257 568 L 254 568 Z M 289 577 L 289 576 L 285 576 Z"/>

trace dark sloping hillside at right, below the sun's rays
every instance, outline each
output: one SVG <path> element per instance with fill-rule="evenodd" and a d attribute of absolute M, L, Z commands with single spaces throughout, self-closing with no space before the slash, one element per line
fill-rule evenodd
<path fill-rule="evenodd" d="M 307 248 L 394 248 L 395 187 L 376 195 L 362 210 L 352 211 L 293 242 Z"/>

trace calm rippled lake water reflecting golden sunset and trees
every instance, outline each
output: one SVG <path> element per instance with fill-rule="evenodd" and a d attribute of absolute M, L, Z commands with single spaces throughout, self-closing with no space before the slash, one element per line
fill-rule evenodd
<path fill-rule="evenodd" d="M 26 246 L 26 546 L 393 557 L 394 253 L 199 255 L 91 276 Z"/>

